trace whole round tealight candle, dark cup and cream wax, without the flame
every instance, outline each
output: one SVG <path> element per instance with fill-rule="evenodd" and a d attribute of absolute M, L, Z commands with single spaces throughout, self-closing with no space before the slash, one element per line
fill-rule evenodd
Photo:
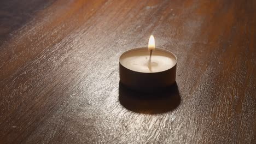
<path fill-rule="evenodd" d="M 119 58 L 120 82 L 127 88 L 153 92 L 168 88 L 176 81 L 177 57 L 156 48 L 149 57 L 148 48 L 124 52 Z"/>

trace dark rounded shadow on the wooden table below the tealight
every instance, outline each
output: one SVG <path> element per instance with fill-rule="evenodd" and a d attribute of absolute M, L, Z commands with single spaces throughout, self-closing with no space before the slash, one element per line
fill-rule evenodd
<path fill-rule="evenodd" d="M 176 109 L 181 103 L 177 83 L 164 91 L 136 92 L 119 82 L 119 102 L 127 110 L 137 113 L 157 114 Z"/>

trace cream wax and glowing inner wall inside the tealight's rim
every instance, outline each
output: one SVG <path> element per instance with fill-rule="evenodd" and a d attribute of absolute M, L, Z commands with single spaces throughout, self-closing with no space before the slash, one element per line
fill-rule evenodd
<path fill-rule="evenodd" d="M 176 58 L 171 52 L 155 49 L 152 52 L 147 48 L 133 49 L 125 52 L 120 57 L 120 63 L 127 69 L 141 73 L 157 73 L 172 68 L 176 64 Z"/>

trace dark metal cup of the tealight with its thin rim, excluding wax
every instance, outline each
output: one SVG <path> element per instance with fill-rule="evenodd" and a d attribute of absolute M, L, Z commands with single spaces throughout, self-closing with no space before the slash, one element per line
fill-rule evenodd
<path fill-rule="evenodd" d="M 146 48 L 136 48 L 136 49 L 146 49 Z M 132 50 L 136 50 L 132 49 Z M 129 50 L 129 51 L 132 51 Z M 170 51 L 158 49 L 159 51 L 168 52 L 172 55 L 176 63 L 175 65 L 167 70 L 156 72 L 156 73 L 142 73 L 138 71 L 133 71 L 125 68 L 119 59 L 119 75 L 120 82 L 127 88 L 134 89 L 140 92 L 154 92 L 159 91 L 161 89 L 168 88 L 172 86 L 176 82 L 176 67 L 177 67 L 177 57 Z M 126 51 L 126 52 L 129 52 Z M 126 52 L 124 52 L 121 56 L 123 56 Z M 120 56 L 120 57 L 121 57 Z"/>

